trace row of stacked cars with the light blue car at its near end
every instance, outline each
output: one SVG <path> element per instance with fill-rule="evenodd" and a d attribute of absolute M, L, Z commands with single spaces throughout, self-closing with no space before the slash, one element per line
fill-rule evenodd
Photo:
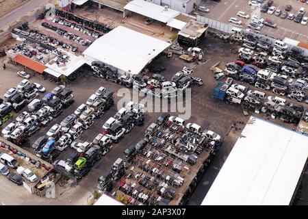
<path fill-rule="evenodd" d="M 55 92 L 59 91 L 56 90 L 53 93 Z M 86 150 L 88 144 L 77 144 L 74 140 L 79 138 L 84 130 L 89 129 L 94 124 L 95 118 L 101 118 L 114 105 L 112 91 L 101 87 L 96 93 L 99 96 L 92 94 L 86 104 L 82 103 L 77 107 L 74 114 L 66 116 L 60 125 L 53 125 L 46 135 L 40 136 L 34 142 L 32 147 L 38 157 L 43 159 L 54 158 L 68 146 L 77 149 L 79 153 L 83 153 Z"/>

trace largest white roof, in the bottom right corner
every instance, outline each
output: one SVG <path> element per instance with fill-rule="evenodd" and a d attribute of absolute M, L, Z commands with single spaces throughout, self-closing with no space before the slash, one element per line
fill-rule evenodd
<path fill-rule="evenodd" d="M 202 205 L 289 205 L 308 138 L 251 117 Z"/>

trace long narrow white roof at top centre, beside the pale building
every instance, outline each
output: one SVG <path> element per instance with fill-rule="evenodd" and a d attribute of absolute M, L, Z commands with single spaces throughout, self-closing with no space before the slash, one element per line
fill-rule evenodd
<path fill-rule="evenodd" d="M 127 3 L 127 5 L 124 6 L 124 9 L 135 12 L 137 14 L 142 14 L 143 16 L 147 16 L 149 18 L 153 18 L 154 20 L 161 21 L 162 23 L 167 23 L 170 21 L 170 19 L 175 18 L 177 15 L 181 14 L 181 12 L 177 12 L 170 8 L 165 10 L 165 8 L 161 5 L 156 5 L 144 0 L 130 1 Z"/>

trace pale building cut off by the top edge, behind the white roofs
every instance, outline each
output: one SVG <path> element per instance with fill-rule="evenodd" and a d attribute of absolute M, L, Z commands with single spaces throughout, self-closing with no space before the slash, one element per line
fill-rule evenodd
<path fill-rule="evenodd" d="M 167 5 L 170 9 L 189 14 L 194 9 L 194 3 L 199 5 L 201 0 L 146 0 L 157 5 Z"/>

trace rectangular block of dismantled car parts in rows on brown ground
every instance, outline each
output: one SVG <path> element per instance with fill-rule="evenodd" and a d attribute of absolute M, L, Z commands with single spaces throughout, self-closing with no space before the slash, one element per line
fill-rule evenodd
<path fill-rule="evenodd" d="M 214 131 L 162 114 L 129 146 L 111 172 L 99 178 L 98 190 L 127 205 L 181 205 L 201 179 L 222 144 Z"/>

